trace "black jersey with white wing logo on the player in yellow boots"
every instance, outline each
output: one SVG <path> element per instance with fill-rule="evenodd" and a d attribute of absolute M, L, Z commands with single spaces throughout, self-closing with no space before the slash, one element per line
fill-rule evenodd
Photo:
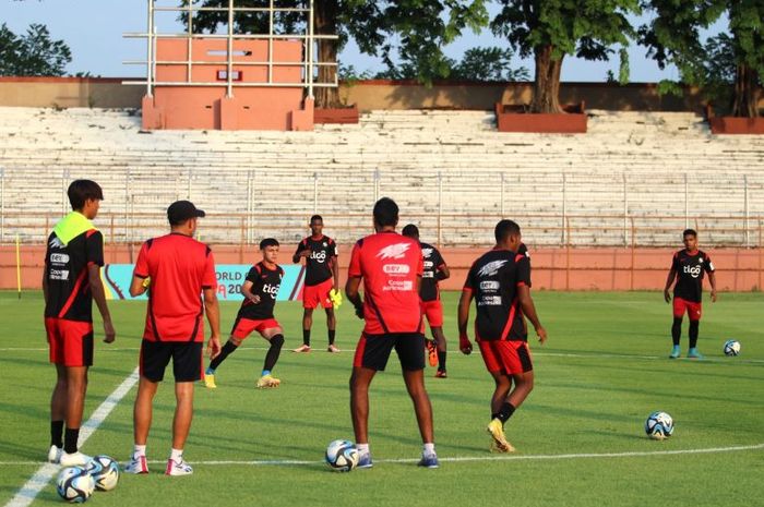
<path fill-rule="evenodd" d="M 527 341 L 517 287 L 530 287 L 530 262 L 524 254 L 493 249 L 475 261 L 464 291 L 475 297 L 475 338 Z"/>

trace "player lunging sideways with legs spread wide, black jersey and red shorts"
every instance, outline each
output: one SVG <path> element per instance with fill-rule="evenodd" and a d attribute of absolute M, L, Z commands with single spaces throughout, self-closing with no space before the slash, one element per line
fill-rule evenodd
<path fill-rule="evenodd" d="M 273 316 L 276 294 L 278 294 L 282 278 L 284 278 L 284 269 L 276 264 L 278 241 L 273 238 L 264 239 L 260 242 L 260 251 L 263 254 L 263 259 L 250 268 L 247 279 L 241 286 L 241 294 L 244 300 L 241 302 L 236 322 L 234 322 L 230 338 L 204 373 L 204 384 L 211 389 L 217 387 L 215 385 L 215 371 L 220 363 L 234 353 L 250 333 L 255 330 L 271 343 L 265 354 L 265 363 L 258 381 L 258 387 L 278 387 L 282 383 L 271 375 L 276 361 L 278 361 L 278 355 L 282 353 L 282 346 L 284 346 L 284 330 Z"/>

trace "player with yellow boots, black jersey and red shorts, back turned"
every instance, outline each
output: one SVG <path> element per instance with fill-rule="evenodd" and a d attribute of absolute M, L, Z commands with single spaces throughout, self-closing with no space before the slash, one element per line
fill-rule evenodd
<path fill-rule="evenodd" d="M 536 314 L 530 298 L 530 263 L 521 254 L 520 226 L 512 220 L 500 220 L 496 226 L 496 248 L 475 261 L 462 290 L 458 303 L 459 349 L 469 354 L 473 345 L 467 336 L 469 304 L 475 298 L 475 340 L 486 369 L 496 382 L 491 398 L 492 449 L 512 452 L 506 440 L 504 423 L 520 408 L 534 387 L 533 362 L 527 343 L 525 315 L 541 343 L 547 331 Z M 514 388 L 512 384 L 514 383 Z"/>

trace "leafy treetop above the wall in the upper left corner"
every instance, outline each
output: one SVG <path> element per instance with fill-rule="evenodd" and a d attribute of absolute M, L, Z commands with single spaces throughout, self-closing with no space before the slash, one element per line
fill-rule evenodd
<path fill-rule="evenodd" d="M 45 25 L 32 24 L 26 34 L 0 26 L 0 75 L 63 75 L 72 55 L 63 40 L 52 40 Z"/>

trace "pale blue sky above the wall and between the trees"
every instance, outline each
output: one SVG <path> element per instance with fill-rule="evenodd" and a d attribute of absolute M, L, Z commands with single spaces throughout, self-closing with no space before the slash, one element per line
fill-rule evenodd
<path fill-rule="evenodd" d="M 146 26 L 145 0 L 0 0 L 0 23 L 7 23 L 15 33 L 23 33 L 31 23 L 48 26 L 51 36 L 63 39 L 72 50 L 73 60 L 68 72 L 89 72 L 104 77 L 128 77 L 144 75 L 144 68 L 123 65 L 123 60 L 141 60 L 145 57 L 145 41 L 126 39 L 126 32 L 143 32 Z M 178 27 L 172 16 L 159 19 L 163 32 Z M 709 34 L 726 28 L 726 22 L 717 23 Z M 462 53 L 476 46 L 503 46 L 490 33 L 466 34 L 446 48 L 446 53 L 459 59 Z M 658 65 L 645 57 L 641 47 L 630 48 L 631 81 L 657 82 L 677 79 L 676 70 L 660 71 Z M 344 64 L 357 71 L 382 70 L 378 59 L 367 57 L 349 44 L 341 53 Z M 533 75 L 533 61 L 515 59 L 513 67 L 526 67 Z M 618 60 L 587 62 L 569 58 L 563 63 L 562 81 L 602 82 L 608 70 L 618 75 Z"/>

